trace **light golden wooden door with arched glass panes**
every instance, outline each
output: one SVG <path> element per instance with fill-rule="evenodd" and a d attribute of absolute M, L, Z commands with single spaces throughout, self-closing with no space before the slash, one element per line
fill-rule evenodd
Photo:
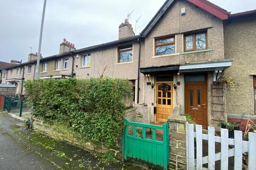
<path fill-rule="evenodd" d="M 172 83 L 156 83 L 156 121 L 166 122 L 172 108 Z"/>

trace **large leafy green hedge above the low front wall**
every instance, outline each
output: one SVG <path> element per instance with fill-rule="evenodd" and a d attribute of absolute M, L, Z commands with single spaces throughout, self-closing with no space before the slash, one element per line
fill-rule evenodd
<path fill-rule="evenodd" d="M 66 123 L 85 140 L 110 146 L 124 128 L 124 97 L 131 95 L 123 79 L 28 80 L 27 100 L 34 116 L 50 124 Z"/>

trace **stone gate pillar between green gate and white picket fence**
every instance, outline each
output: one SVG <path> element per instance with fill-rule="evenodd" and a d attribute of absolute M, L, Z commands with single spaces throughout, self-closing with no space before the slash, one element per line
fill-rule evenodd
<path fill-rule="evenodd" d="M 186 116 L 180 115 L 180 106 L 169 117 L 169 169 L 186 169 Z"/>

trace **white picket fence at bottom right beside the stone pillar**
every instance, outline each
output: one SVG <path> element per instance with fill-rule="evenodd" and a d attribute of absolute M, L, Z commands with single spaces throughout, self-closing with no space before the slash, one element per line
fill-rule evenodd
<path fill-rule="evenodd" d="M 215 161 L 221 161 L 221 169 L 228 169 L 228 157 L 235 156 L 234 169 L 242 169 L 243 153 L 249 154 L 248 169 L 256 169 L 256 133 L 249 132 L 249 141 L 243 141 L 242 131 L 235 131 L 235 139 L 228 138 L 228 130 L 221 129 L 221 137 L 215 136 L 215 129 L 208 127 L 208 134 L 202 133 L 202 126 L 186 123 L 187 169 L 203 169 L 208 163 L 208 169 L 215 169 Z M 196 138 L 196 159 L 195 143 Z M 203 157 L 203 140 L 208 140 L 208 156 Z M 221 143 L 221 152 L 215 153 L 215 142 Z M 229 149 L 229 145 L 234 148 Z"/>

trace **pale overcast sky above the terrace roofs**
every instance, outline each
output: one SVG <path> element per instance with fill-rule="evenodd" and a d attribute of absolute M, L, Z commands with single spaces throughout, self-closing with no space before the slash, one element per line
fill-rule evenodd
<path fill-rule="evenodd" d="M 255 0 L 210 0 L 232 13 L 254 10 Z M 22 60 L 38 50 L 43 0 L 0 0 L 0 61 Z M 118 26 L 131 14 L 130 23 L 142 15 L 137 34 L 165 0 L 48 0 L 42 54 L 58 54 L 63 38 L 77 49 L 118 39 Z"/>

